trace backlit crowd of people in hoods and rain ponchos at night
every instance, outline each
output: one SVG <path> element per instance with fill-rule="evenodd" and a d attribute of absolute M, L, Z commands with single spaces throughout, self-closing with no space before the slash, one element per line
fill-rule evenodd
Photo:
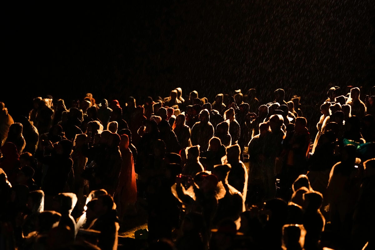
<path fill-rule="evenodd" d="M 0 102 L 0 249 L 374 248 L 375 86 Z M 30 101 L 31 103 L 31 101 Z M 311 127 L 316 130 L 312 132 Z M 310 128 L 310 129 L 309 129 Z"/>

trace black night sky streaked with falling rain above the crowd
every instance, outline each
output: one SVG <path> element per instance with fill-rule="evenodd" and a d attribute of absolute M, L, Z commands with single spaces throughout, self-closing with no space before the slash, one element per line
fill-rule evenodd
<path fill-rule="evenodd" d="M 374 85 L 372 0 L 150 2 L 4 6 L 9 113 L 46 94 L 69 107 L 87 92 L 141 104 L 175 87 L 212 98 Z"/>

